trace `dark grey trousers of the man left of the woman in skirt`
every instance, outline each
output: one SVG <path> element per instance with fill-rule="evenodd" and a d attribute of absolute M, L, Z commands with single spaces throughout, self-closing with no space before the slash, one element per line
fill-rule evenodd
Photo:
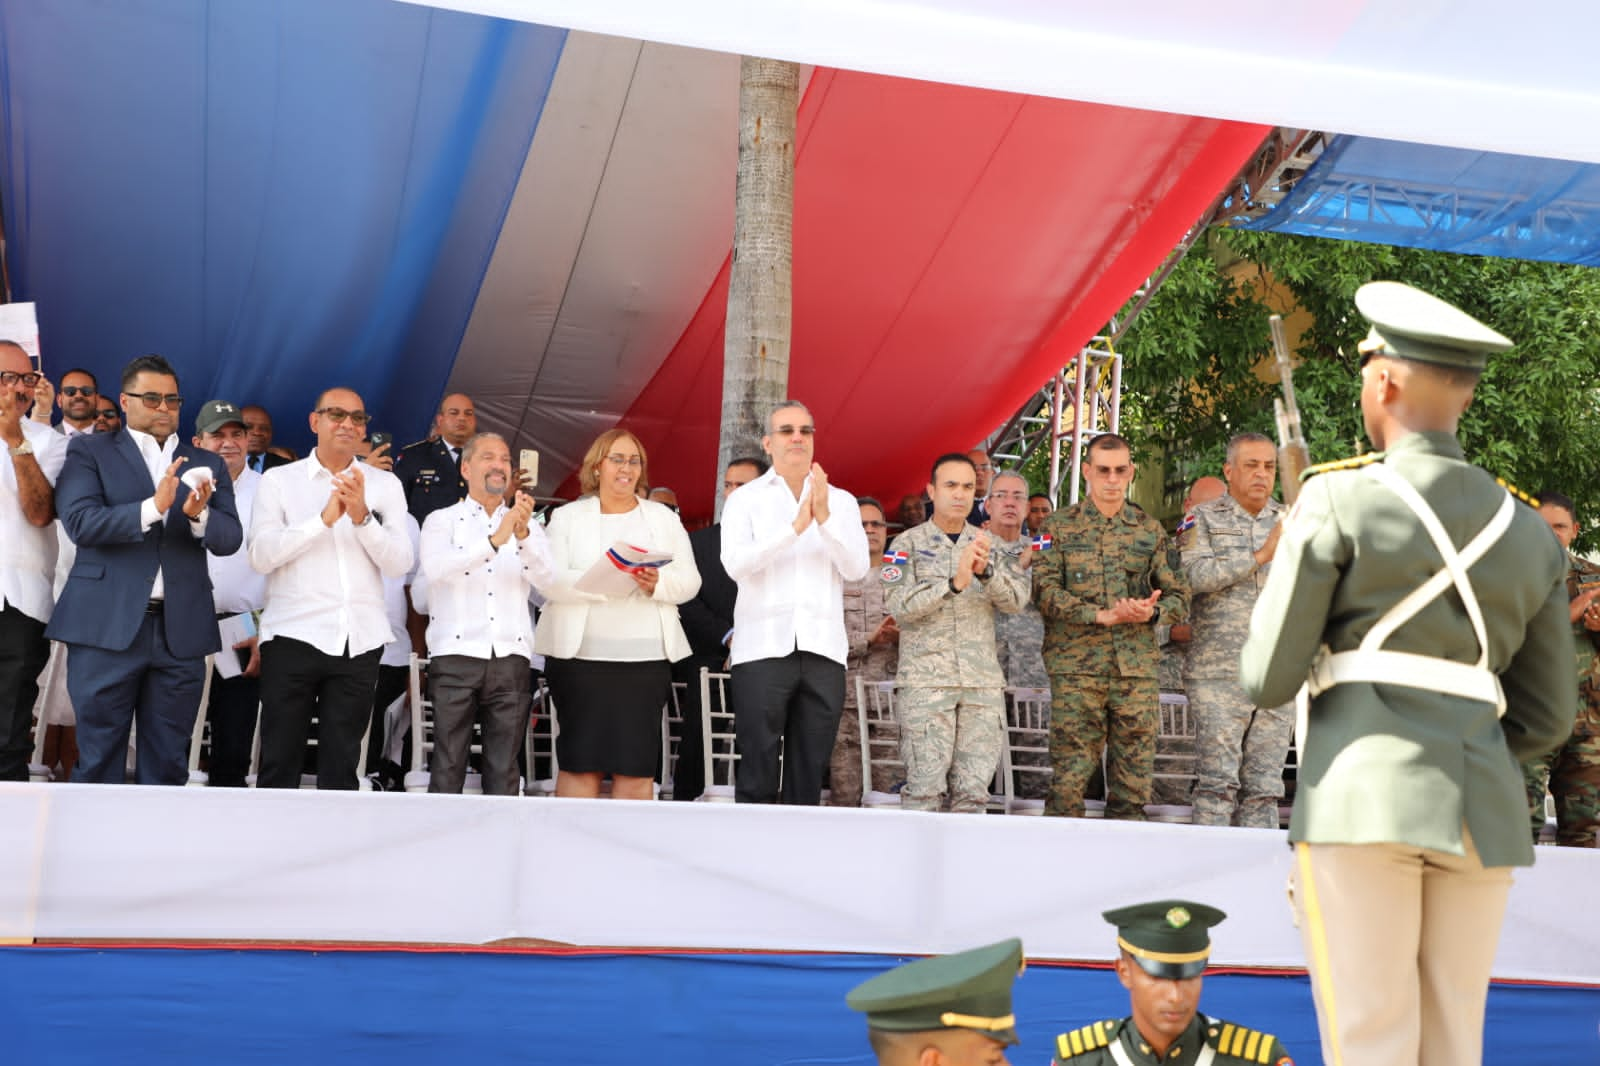
<path fill-rule="evenodd" d="M 483 794 L 517 795 L 517 751 L 528 733 L 528 659 L 435 655 L 427 664 L 434 691 L 434 757 L 427 791 L 461 794 L 472 723 L 483 723 Z"/>

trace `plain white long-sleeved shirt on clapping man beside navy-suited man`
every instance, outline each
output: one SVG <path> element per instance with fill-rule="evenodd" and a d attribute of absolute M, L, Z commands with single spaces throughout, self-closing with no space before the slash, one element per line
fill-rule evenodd
<path fill-rule="evenodd" d="M 357 656 L 394 640 L 384 578 L 411 570 L 405 490 L 389 471 L 363 464 L 362 475 L 370 520 L 341 514 L 333 527 L 322 522 L 333 472 L 315 451 L 261 475 L 246 546 L 250 565 L 267 575 L 262 642 L 291 637 L 323 655 Z"/>

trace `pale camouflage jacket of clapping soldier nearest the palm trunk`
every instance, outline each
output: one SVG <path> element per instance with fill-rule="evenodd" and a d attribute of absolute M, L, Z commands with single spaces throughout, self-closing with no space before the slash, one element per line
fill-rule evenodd
<path fill-rule="evenodd" d="M 1027 603 L 1027 573 L 990 543 L 989 575 L 950 591 L 955 560 L 978 536 L 966 525 L 955 543 L 931 520 L 890 544 L 878 575 L 883 605 L 901 631 L 898 687 L 1005 688 L 995 653 L 995 611 Z M 898 557 L 904 555 L 904 562 Z"/>

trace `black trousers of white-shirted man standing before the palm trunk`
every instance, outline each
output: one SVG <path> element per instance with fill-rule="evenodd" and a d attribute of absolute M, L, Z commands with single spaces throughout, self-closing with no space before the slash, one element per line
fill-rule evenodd
<path fill-rule="evenodd" d="M 845 666 L 798 650 L 781 659 L 741 663 L 733 667 L 730 695 L 739 739 L 734 800 L 803 807 L 822 802 L 822 771 L 845 707 Z"/>

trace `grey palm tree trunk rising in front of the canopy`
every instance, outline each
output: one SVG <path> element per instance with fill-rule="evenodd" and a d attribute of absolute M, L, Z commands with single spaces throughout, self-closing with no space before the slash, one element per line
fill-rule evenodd
<path fill-rule="evenodd" d="M 795 110 L 800 67 L 746 56 L 739 62 L 739 173 L 722 362 L 722 472 L 762 455 L 766 413 L 789 391 L 792 323 Z"/>

